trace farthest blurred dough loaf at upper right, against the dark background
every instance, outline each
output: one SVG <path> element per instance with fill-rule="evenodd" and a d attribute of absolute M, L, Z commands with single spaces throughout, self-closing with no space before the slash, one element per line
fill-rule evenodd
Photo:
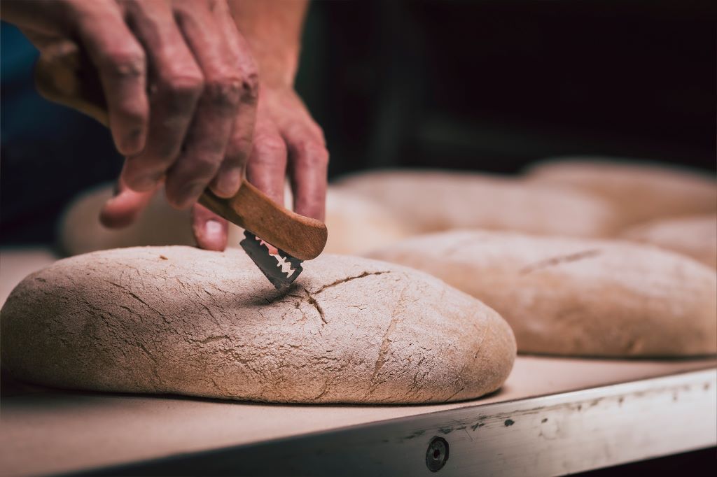
<path fill-rule="evenodd" d="M 619 211 L 622 228 L 655 218 L 717 212 L 714 177 L 631 159 L 547 160 L 529 171 L 528 180 L 609 201 Z"/>

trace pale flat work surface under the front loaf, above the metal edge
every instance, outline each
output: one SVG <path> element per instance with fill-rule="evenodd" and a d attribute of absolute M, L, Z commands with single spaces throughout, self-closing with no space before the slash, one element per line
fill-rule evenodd
<path fill-rule="evenodd" d="M 716 360 L 619 361 L 519 356 L 508 381 L 478 401 L 421 406 L 308 406 L 181 397 L 37 392 L 0 401 L 6 473 L 61 473 L 404 418 L 441 410 L 670 375 Z M 476 413 L 480 414 L 480 411 Z"/>

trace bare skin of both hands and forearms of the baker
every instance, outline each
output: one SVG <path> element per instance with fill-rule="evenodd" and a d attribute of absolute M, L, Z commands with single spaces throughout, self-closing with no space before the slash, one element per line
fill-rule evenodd
<path fill-rule="evenodd" d="M 164 183 L 172 206 L 194 205 L 199 246 L 221 250 L 227 223 L 196 200 L 207 186 L 233 196 L 244 174 L 281 203 L 289 165 L 296 210 L 323 218 L 328 153 L 292 86 L 305 6 L 261 0 L 6 1 L 2 17 L 41 51 L 77 42 L 98 69 L 110 130 L 126 157 L 118 194 L 100 214 L 105 226 L 132 223 Z M 251 41 L 239 33 L 244 27 Z M 282 34 L 274 41 L 267 32 Z M 261 98 L 255 47 L 258 63 L 267 65 Z"/>

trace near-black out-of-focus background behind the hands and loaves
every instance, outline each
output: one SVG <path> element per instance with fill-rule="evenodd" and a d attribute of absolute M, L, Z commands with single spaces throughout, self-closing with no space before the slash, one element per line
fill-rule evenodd
<path fill-rule="evenodd" d="M 611 155 L 715 173 L 716 16 L 694 1 L 315 1 L 297 88 L 330 175 L 517 173 Z M 47 242 L 72 196 L 120 170 L 108 131 L 32 90 L 1 29 L 0 242 Z"/>

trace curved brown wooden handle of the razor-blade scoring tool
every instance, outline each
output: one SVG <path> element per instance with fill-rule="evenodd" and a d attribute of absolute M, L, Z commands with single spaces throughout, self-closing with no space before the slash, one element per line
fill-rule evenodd
<path fill-rule="evenodd" d="M 108 125 L 105 97 L 94 69 L 75 44 L 58 44 L 43 52 L 35 67 L 40 95 L 94 117 Z M 273 202 L 246 179 L 232 198 L 217 197 L 207 189 L 199 203 L 300 260 L 317 257 L 326 245 L 326 225 L 300 216 Z"/>

